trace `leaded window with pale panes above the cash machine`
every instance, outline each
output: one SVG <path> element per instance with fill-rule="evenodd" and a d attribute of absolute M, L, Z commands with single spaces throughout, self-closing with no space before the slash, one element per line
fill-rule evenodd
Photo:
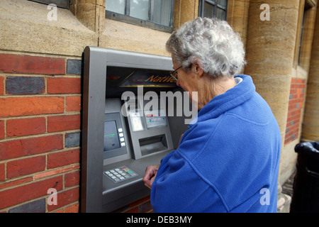
<path fill-rule="evenodd" d="M 174 0 L 106 0 L 106 18 L 172 32 Z"/>

